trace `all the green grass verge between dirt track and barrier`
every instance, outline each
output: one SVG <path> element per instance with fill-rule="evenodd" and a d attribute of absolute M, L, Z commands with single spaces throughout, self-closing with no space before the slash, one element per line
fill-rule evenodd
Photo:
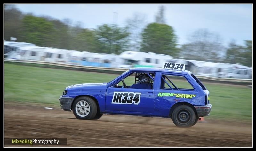
<path fill-rule="evenodd" d="M 108 82 L 118 75 L 4 64 L 5 101 L 59 104 L 64 89 L 79 83 Z M 179 82 L 174 80 L 173 83 Z M 125 79 L 127 85 L 134 77 Z M 129 84 L 128 84 L 129 83 Z M 119 83 L 121 84 L 121 83 Z M 211 115 L 207 118 L 252 120 L 252 88 L 204 83 L 210 91 Z"/>

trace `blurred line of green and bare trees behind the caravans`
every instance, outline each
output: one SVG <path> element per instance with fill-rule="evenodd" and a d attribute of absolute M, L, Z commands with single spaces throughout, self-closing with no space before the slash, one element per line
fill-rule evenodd
<path fill-rule="evenodd" d="M 80 22 L 71 24 L 70 19 L 23 14 L 15 5 L 4 5 L 4 39 L 16 37 L 17 41 L 67 50 L 155 52 L 174 58 L 252 66 L 252 41 L 246 40 L 245 46 L 231 42 L 225 48 L 218 34 L 199 29 L 188 36 L 188 43 L 179 45 L 174 28 L 165 23 L 164 6 L 155 17 L 154 23 L 145 23 L 145 15 L 136 13 L 127 19 L 125 27 L 103 24 L 87 29 Z"/>

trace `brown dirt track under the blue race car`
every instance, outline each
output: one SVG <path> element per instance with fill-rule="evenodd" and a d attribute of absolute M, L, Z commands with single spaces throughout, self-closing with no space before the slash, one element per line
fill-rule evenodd
<path fill-rule="evenodd" d="M 168 118 L 103 115 L 78 120 L 56 105 L 20 104 L 5 103 L 4 138 L 67 138 L 69 147 L 252 147 L 251 123 L 206 117 L 207 123 L 178 128 Z"/>

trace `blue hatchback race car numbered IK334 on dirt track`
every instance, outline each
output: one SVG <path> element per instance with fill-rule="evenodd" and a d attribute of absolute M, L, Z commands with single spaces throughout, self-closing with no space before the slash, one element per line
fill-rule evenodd
<path fill-rule="evenodd" d="M 59 101 L 77 119 L 103 114 L 166 117 L 178 127 L 195 125 L 212 109 L 209 91 L 199 79 L 184 64 L 168 62 L 163 68 L 130 68 L 108 83 L 68 86 Z"/>

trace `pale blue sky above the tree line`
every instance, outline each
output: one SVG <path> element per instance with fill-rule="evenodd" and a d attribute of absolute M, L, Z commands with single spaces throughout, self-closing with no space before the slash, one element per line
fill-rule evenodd
<path fill-rule="evenodd" d="M 124 27 L 134 14 L 144 15 L 147 25 L 155 21 L 161 5 L 178 44 L 188 43 L 188 37 L 202 28 L 220 35 L 224 46 L 231 41 L 244 45 L 244 40 L 252 40 L 252 4 L 16 4 L 23 13 L 69 18 L 73 24 L 79 21 L 90 29 L 112 23 Z"/>

